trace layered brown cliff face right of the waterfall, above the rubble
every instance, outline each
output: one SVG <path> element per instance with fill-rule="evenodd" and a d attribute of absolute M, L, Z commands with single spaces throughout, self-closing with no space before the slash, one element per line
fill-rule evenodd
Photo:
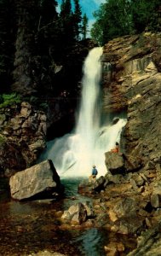
<path fill-rule="evenodd" d="M 146 170 L 160 164 L 161 34 L 116 38 L 103 49 L 104 111 L 127 113 L 124 154 Z"/>

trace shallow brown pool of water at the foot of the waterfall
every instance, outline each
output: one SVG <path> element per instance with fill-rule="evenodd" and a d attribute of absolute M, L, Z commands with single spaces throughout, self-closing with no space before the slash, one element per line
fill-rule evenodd
<path fill-rule="evenodd" d="M 60 201 L 12 201 L 9 185 L 0 180 L 0 255 L 25 256 L 48 250 L 68 256 L 104 256 L 109 241 L 107 230 L 63 228 L 58 211 L 78 201 L 91 199 L 78 195 L 80 179 L 62 180 L 65 198 Z"/>

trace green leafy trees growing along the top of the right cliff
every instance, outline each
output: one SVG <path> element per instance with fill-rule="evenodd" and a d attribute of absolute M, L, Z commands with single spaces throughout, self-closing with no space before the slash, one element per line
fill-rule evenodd
<path fill-rule="evenodd" d="M 106 0 L 95 12 L 91 36 L 99 44 L 112 38 L 161 30 L 160 0 Z"/>

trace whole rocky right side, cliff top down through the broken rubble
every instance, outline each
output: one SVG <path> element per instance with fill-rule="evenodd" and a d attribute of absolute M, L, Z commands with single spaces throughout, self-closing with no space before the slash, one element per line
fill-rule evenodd
<path fill-rule="evenodd" d="M 117 156 L 123 157 L 122 165 L 114 154 L 113 160 L 110 152 L 105 154 L 111 173 L 106 174 L 97 209 L 104 207 L 109 216 L 108 229 L 141 235 L 129 255 L 158 255 L 160 249 L 160 49 L 161 34 L 148 32 L 116 38 L 102 55 L 104 111 L 124 114 L 127 123 Z"/>

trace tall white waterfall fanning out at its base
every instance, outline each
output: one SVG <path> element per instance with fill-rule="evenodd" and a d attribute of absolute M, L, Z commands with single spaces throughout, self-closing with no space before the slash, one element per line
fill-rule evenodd
<path fill-rule="evenodd" d="M 106 117 L 101 125 L 101 55 L 101 47 L 92 49 L 84 62 L 82 100 L 75 132 L 49 142 L 42 155 L 42 160 L 53 160 L 60 177 L 87 177 L 93 165 L 99 176 L 105 175 L 105 152 L 119 142 L 126 124 L 126 119 L 109 124 Z"/>

